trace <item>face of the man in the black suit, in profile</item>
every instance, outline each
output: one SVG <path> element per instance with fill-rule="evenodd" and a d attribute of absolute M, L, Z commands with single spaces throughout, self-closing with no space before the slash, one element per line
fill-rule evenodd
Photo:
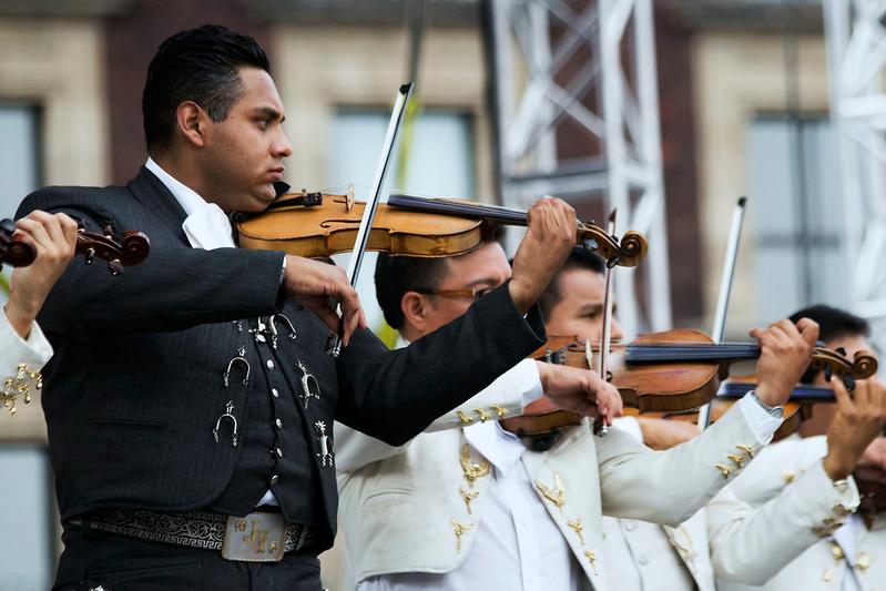
<path fill-rule="evenodd" d="M 208 123 L 200 161 L 210 180 L 205 197 L 227 212 L 261 212 L 276 196 L 274 182 L 293 147 L 283 133 L 283 102 L 271 74 L 242 68 L 240 79 L 240 100 L 223 121 Z"/>

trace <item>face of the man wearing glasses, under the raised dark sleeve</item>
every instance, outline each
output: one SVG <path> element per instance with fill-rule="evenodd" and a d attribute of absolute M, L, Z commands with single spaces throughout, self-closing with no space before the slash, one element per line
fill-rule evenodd
<path fill-rule="evenodd" d="M 436 287 L 441 289 L 489 289 L 498 287 L 511 276 L 505 251 L 497 242 L 483 244 L 468 254 L 446 261 L 446 278 Z M 472 297 L 448 297 L 421 294 L 426 306 L 425 324 L 418 336 L 425 336 L 455 320 L 470 308 Z M 418 337 L 416 337 L 418 338 Z"/>

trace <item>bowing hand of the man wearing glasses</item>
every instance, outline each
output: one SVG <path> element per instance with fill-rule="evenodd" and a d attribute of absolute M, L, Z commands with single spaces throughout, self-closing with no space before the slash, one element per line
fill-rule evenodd
<path fill-rule="evenodd" d="M 544 395 L 563 410 L 603 417 L 605 425 L 621 415 L 619 390 L 597 371 L 538 361 Z"/>

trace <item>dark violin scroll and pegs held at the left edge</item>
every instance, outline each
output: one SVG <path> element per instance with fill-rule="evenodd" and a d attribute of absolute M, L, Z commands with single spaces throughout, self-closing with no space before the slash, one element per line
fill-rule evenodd
<path fill-rule="evenodd" d="M 30 244 L 16 238 L 14 232 L 13 221 L 0 221 L 0 266 L 6 263 L 13 267 L 27 267 L 37 258 L 37 252 Z M 101 258 L 108 262 L 112 275 L 120 275 L 123 267 L 138 265 L 147 258 L 151 241 L 142 232 L 133 231 L 124 232 L 123 240 L 118 241 L 110 226 L 104 228 L 103 234 L 98 234 L 86 232 L 81 223 L 77 228 L 75 252 L 83 255 L 86 265 Z"/>

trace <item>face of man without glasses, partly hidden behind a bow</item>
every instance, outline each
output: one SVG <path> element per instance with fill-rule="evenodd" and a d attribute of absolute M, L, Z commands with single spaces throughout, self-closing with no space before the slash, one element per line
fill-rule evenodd
<path fill-rule="evenodd" d="M 558 279 L 560 302 L 551 309 L 544 329 L 551 336 L 577 336 L 591 342 L 599 340 L 603 332 L 603 299 L 607 293 L 605 277 L 593 271 L 570 268 Z M 612 340 L 621 340 L 624 333 L 619 322 L 612 318 Z"/>

